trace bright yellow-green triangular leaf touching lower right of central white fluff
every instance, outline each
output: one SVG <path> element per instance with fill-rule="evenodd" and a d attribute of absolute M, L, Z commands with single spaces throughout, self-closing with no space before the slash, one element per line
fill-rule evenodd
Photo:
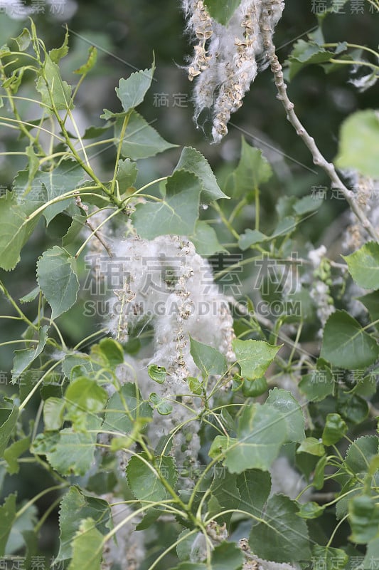
<path fill-rule="evenodd" d="M 281 346 L 273 346 L 264 341 L 233 341 L 233 350 L 237 363 L 241 367 L 241 375 L 250 380 L 260 378 L 274 360 Z"/>

